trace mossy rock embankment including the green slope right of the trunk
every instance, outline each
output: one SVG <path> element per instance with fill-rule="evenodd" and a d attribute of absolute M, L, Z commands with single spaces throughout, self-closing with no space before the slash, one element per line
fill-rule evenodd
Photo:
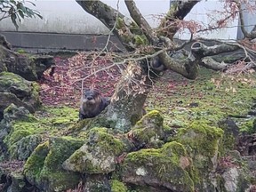
<path fill-rule="evenodd" d="M 12 191 L 237 191 L 255 178 L 237 140 L 255 132 L 255 76 L 202 69 L 156 83 L 148 114 L 127 133 L 77 122 L 78 109 L 4 110 L 1 188 Z M 155 110 L 156 109 L 156 110 Z M 103 123 L 102 123 L 103 122 Z M 244 136 L 245 135 L 245 136 Z M 250 148 L 250 149 L 249 149 Z M 246 152 L 247 154 L 243 153 Z M 230 179 L 231 178 L 231 179 Z M 15 189 L 15 190 L 14 190 Z M 74 189 L 75 191 L 75 189 Z"/>

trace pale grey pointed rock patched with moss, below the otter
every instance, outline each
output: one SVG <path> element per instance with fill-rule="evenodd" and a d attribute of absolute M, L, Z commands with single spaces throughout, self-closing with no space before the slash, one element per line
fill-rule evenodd
<path fill-rule="evenodd" d="M 116 168 L 116 156 L 124 151 L 124 143 L 107 128 L 95 127 L 86 134 L 84 145 L 63 164 L 66 170 L 73 172 L 108 173 Z"/>

